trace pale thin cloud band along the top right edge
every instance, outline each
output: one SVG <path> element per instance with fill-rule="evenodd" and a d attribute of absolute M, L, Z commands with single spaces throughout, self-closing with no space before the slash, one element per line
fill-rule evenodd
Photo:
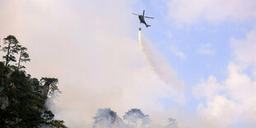
<path fill-rule="evenodd" d="M 255 21 L 254 0 L 172 0 L 168 2 L 168 17 L 179 25 L 198 21 Z"/>

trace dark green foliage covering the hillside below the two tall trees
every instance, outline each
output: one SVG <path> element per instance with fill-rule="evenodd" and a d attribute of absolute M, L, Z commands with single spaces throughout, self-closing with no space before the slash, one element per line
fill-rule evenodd
<path fill-rule="evenodd" d="M 0 62 L 0 97 L 8 98 L 8 106 L 0 108 L 0 127 L 66 127 L 64 121 L 55 120 L 55 115 L 45 108 L 47 97 L 41 94 L 42 86 L 37 78 L 18 69 L 10 69 Z M 57 87 L 57 78 L 42 78 L 54 90 Z M 0 107 L 2 105 L 0 104 Z"/>

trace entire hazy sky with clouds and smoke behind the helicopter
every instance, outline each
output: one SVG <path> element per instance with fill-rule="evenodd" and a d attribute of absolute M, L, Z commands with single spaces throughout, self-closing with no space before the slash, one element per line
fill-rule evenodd
<path fill-rule="evenodd" d="M 155 17 L 148 28 L 131 14 L 143 10 Z M 157 66 L 174 72 L 168 84 L 138 27 Z M 0 0 L 0 28 L 28 48 L 27 73 L 59 78 L 49 107 L 67 126 L 136 107 L 161 126 L 256 127 L 254 0 Z"/>

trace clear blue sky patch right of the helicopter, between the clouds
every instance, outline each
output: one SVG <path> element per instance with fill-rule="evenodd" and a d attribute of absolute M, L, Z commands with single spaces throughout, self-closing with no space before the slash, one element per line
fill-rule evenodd
<path fill-rule="evenodd" d="M 152 24 L 152 27 L 148 29 L 143 24 L 138 23 L 139 26 L 144 27 L 145 31 L 143 32 L 151 43 L 186 79 L 187 84 L 196 84 L 200 78 L 207 78 L 211 74 L 220 80 L 221 78 L 224 79 L 227 75 L 225 69 L 232 59 L 230 39 L 245 39 L 246 32 L 252 29 L 253 24 L 235 23 L 234 21 L 212 24 L 208 21 L 199 21 L 196 25 L 179 27 L 175 26 L 175 21 L 168 20 L 168 7 L 161 5 L 161 3 L 167 4 L 168 1 L 160 2 L 159 5 L 152 5 L 151 1 L 143 1 L 144 6 L 142 7 L 137 7 L 135 3 L 135 10 L 139 10 L 137 13 L 141 13 L 145 8 L 146 15 L 156 17 L 155 21 L 147 20 L 149 24 Z M 157 9 L 159 6 L 163 7 L 160 10 L 162 12 Z M 203 47 L 201 45 L 206 44 L 211 44 L 205 49 L 214 50 L 213 54 L 200 54 L 198 52 Z M 171 47 L 182 51 L 186 59 L 176 56 Z"/>

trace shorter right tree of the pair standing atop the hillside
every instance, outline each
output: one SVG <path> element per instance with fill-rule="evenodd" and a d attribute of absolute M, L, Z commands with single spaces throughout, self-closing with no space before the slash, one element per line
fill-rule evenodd
<path fill-rule="evenodd" d="M 21 62 L 25 62 L 26 61 L 31 61 L 31 59 L 29 58 L 30 56 L 26 53 L 26 47 L 23 47 L 21 45 L 18 46 L 19 50 L 20 50 L 20 57 L 19 57 L 19 62 L 18 62 L 18 69 L 22 69 L 25 68 L 25 66 L 21 65 Z"/>

